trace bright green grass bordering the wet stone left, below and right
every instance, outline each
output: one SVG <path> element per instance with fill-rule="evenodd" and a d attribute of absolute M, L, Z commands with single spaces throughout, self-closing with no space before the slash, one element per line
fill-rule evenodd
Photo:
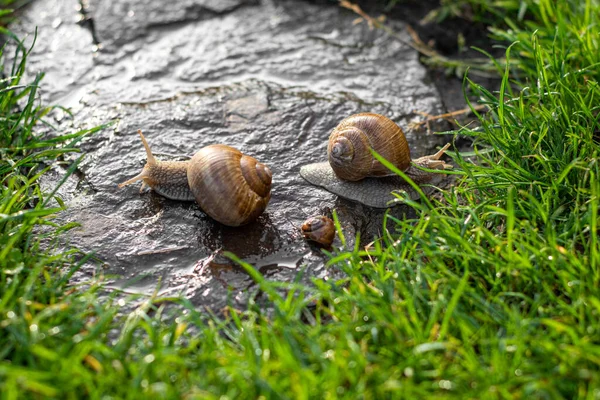
<path fill-rule="evenodd" d="M 340 280 L 270 282 L 240 261 L 270 310 L 222 318 L 156 296 L 123 313 L 101 281 L 67 285 L 82 255 L 39 250 L 69 228 L 39 176 L 91 132 L 35 136 L 48 109 L 41 77 L 19 81 L 21 48 L 0 88 L 0 396 L 599 398 L 600 5 L 554 3 L 498 21 L 501 88 L 465 79 L 488 112 L 454 132 L 475 151 L 454 154 L 443 198 L 334 252 Z"/>

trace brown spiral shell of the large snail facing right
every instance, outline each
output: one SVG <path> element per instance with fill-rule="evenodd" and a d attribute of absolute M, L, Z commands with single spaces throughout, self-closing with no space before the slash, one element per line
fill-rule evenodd
<path fill-rule="evenodd" d="M 402 129 L 391 119 L 374 113 L 343 119 L 329 136 L 327 155 L 336 176 L 343 180 L 391 175 L 370 149 L 401 171 L 410 166 L 410 150 Z"/>

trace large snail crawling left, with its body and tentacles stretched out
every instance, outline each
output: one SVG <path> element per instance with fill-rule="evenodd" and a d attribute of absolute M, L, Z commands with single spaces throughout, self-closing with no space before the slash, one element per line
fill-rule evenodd
<path fill-rule="evenodd" d="M 269 167 L 223 144 L 203 147 L 189 161 L 157 161 L 138 130 L 148 161 L 142 172 L 119 187 L 142 180 L 156 193 L 193 201 L 210 217 L 228 226 L 247 224 L 265 210 L 271 198 Z"/>

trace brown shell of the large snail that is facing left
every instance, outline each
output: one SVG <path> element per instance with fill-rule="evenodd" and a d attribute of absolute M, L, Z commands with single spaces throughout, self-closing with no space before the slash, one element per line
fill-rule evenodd
<path fill-rule="evenodd" d="M 187 176 L 202 210 L 224 225 L 255 220 L 271 199 L 269 167 L 230 146 L 200 149 L 190 160 Z"/>

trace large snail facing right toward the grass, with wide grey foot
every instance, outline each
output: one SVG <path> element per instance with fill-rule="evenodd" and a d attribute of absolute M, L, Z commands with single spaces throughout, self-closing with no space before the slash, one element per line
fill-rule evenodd
<path fill-rule="evenodd" d="M 448 143 L 437 153 L 411 160 L 408 142 L 402 129 L 383 115 L 361 113 L 351 115 L 336 126 L 329 136 L 329 162 L 300 168 L 309 183 L 350 200 L 375 208 L 387 208 L 397 200 L 392 192 L 406 191 L 419 198 L 412 186 L 377 161 L 370 149 L 390 161 L 416 184 L 439 183 L 445 175 L 416 168 L 449 169 L 440 158 Z"/>

